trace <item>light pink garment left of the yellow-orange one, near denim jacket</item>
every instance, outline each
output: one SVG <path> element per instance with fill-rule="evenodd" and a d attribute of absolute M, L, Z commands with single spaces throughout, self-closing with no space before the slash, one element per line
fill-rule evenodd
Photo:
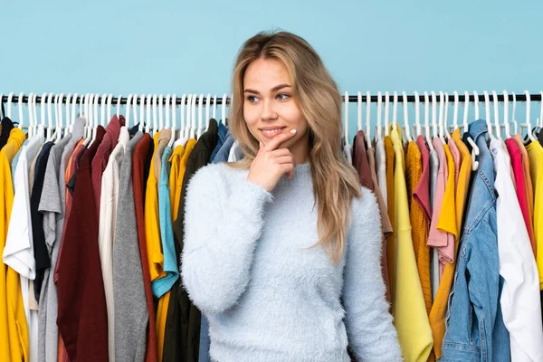
<path fill-rule="evenodd" d="M 437 249 L 439 255 L 439 276 L 443 274 L 445 261 L 450 261 L 449 252 L 446 251 L 449 245 L 452 245 L 452 252 L 454 251 L 454 236 L 450 233 L 443 233 L 437 229 L 437 223 L 439 221 L 439 214 L 443 204 L 443 195 L 445 194 L 445 185 L 447 184 L 447 177 L 449 171 L 447 169 L 447 157 L 445 155 L 445 148 L 441 138 L 433 138 L 433 148 L 437 152 L 439 157 L 439 169 L 437 171 L 437 183 L 435 186 L 435 195 L 433 196 L 433 214 L 432 223 L 430 224 L 430 231 L 428 233 L 428 246 L 432 246 Z"/>

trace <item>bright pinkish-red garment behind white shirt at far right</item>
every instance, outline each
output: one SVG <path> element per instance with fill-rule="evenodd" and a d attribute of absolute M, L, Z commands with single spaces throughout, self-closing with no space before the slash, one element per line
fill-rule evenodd
<path fill-rule="evenodd" d="M 517 184 L 517 198 L 519 199 L 522 217 L 524 217 L 524 224 L 526 224 L 526 229 L 528 230 L 529 243 L 531 243 L 532 251 L 534 252 L 534 255 L 536 255 L 536 241 L 534 239 L 534 230 L 529 217 L 529 201 L 524 179 L 522 152 L 520 152 L 519 145 L 517 145 L 515 138 L 508 138 L 505 143 L 507 144 L 507 149 L 511 157 L 511 165 L 513 167 L 513 174 L 515 175 L 515 183 Z"/>

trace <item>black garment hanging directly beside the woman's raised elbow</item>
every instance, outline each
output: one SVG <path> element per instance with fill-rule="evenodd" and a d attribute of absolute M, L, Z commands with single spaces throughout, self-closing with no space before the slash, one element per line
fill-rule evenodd
<path fill-rule="evenodd" d="M 174 223 L 176 256 L 180 262 L 183 251 L 186 186 L 195 172 L 209 163 L 218 141 L 218 127 L 215 119 L 209 120 L 209 128 L 198 139 L 186 162 L 185 176 L 179 199 L 179 211 Z M 181 269 L 181 265 L 179 265 Z M 164 362 L 197 362 L 200 349 L 200 323 L 202 315 L 188 299 L 179 278 L 170 292 L 167 308 L 166 330 L 164 333 Z"/>

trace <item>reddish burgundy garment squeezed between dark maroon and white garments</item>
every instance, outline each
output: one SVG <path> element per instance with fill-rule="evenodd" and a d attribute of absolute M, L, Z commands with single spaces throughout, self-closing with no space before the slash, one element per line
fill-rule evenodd
<path fill-rule="evenodd" d="M 120 116 L 118 119 L 117 115 L 114 115 L 111 118 L 110 123 L 108 123 L 108 127 L 106 128 L 106 135 L 96 151 L 96 156 L 92 159 L 92 189 L 94 190 L 94 204 L 96 205 L 96 216 L 98 220 L 100 220 L 101 176 L 108 166 L 111 151 L 117 146 L 120 128 L 124 126 L 124 123 L 124 116 Z"/>

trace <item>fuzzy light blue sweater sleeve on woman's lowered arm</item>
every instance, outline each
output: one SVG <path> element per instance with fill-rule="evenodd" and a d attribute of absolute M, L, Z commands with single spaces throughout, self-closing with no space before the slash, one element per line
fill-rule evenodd
<path fill-rule="evenodd" d="M 381 273 L 382 237 L 376 196 L 362 187 L 362 198 L 353 200 L 344 269 L 348 341 L 359 360 L 401 361 Z"/>

